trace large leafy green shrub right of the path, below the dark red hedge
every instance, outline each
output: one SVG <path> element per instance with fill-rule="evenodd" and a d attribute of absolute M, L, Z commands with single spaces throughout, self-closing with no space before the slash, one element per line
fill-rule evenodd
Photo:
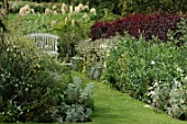
<path fill-rule="evenodd" d="M 144 38 L 136 42 L 135 38 L 125 37 L 118 48 L 111 50 L 107 78 L 113 86 L 125 88 L 133 92 L 134 98 L 142 99 L 154 80 L 170 82 L 179 78 L 176 69 L 186 69 L 184 53 L 185 48 L 177 49 L 170 43 L 154 44 Z"/>

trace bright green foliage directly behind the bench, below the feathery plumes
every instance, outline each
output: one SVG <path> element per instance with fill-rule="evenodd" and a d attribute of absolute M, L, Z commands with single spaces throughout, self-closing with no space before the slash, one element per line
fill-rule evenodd
<path fill-rule="evenodd" d="M 56 32 L 52 27 L 52 21 L 61 20 L 61 15 L 45 15 L 45 14 L 30 14 L 23 18 L 10 14 L 9 15 L 9 23 L 11 29 L 16 30 L 24 35 L 30 33 L 52 33 L 55 34 Z"/>

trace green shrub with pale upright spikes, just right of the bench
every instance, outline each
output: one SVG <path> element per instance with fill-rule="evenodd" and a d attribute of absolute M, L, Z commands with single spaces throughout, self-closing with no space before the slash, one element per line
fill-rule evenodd
<path fill-rule="evenodd" d="M 61 37 L 59 41 L 59 57 L 66 57 L 68 54 L 69 57 L 76 55 L 76 45 L 86 38 L 89 38 L 90 26 L 94 21 L 91 14 L 88 14 L 88 18 L 84 19 L 82 13 L 77 13 L 70 19 L 65 15 L 63 21 L 58 22 L 54 27 L 54 31 Z M 66 21 L 64 21 L 66 20 Z"/>

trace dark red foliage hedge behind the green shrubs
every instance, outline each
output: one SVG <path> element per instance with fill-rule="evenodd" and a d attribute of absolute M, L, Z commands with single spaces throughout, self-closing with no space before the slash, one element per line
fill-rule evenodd
<path fill-rule="evenodd" d="M 161 41 L 166 41 L 168 30 L 178 30 L 177 23 L 180 18 L 178 14 L 129 14 L 113 22 L 96 22 L 91 26 L 91 36 L 92 40 L 108 38 L 128 31 L 136 38 L 142 34 L 145 40 L 151 40 L 154 35 Z"/>

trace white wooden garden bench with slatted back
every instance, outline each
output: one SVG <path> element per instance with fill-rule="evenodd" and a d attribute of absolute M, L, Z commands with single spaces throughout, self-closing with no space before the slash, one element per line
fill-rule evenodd
<path fill-rule="evenodd" d="M 57 35 L 48 33 L 32 33 L 26 35 L 33 42 L 35 42 L 36 47 L 43 49 L 48 55 L 54 56 L 58 54 L 58 40 Z"/>

